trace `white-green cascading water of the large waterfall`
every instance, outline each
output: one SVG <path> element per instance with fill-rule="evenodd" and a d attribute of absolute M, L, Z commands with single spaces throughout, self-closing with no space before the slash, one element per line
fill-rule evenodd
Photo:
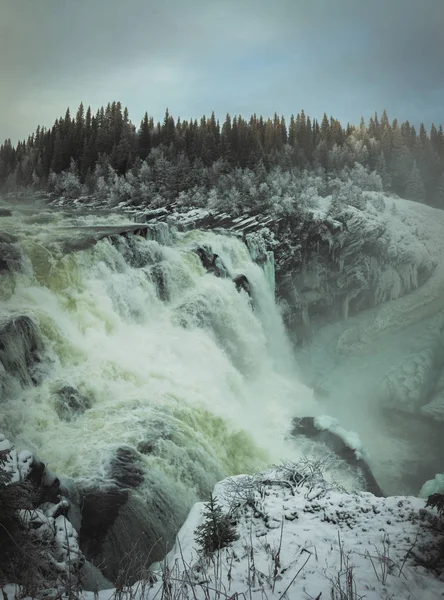
<path fill-rule="evenodd" d="M 164 246 L 120 235 L 128 224 L 116 216 L 14 213 L 1 225 L 23 257 L 3 274 L 2 317 L 29 317 L 44 350 L 36 385 L 4 388 L 0 431 L 83 490 L 106 487 L 119 452 L 134 454 L 141 481 L 115 521 L 108 561 L 141 523 L 147 545 L 172 541 L 222 476 L 296 458 L 285 435 L 315 403 L 241 241 L 199 231 L 173 240 L 162 227 L 151 237 Z M 211 246 L 229 277 L 207 273 L 196 244 Z"/>

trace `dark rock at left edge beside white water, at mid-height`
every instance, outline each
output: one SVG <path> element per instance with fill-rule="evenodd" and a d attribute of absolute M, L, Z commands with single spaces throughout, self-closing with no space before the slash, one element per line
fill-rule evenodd
<path fill-rule="evenodd" d="M 20 315 L 0 321 L 0 364 L 3 367 L 0 391 L 8 376 L 17 378 L 22 385 L 36 384 L 42 351 L 43 341 L 31 317 Z"/>

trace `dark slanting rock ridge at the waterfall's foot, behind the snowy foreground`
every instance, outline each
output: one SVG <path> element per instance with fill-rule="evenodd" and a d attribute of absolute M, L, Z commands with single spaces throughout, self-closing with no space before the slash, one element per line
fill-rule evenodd
<path fill-rule="evenodd" d="M 362 475 L 368 492 L 378 497 L 385 497 L 366 461 L 363 458 L 358 458 L 355 449 L 348 446 L 339 435 L 328 429 L 319 429 L 316 427 L 313 417 L 293 419 L 292 434 L 296 437 L 303 435 L 311 440 L 325 444 L 340 459 Z"/>

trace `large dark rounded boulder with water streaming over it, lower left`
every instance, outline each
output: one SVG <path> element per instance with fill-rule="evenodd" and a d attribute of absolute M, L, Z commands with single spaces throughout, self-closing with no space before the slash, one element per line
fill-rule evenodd
<path fill-rule="evenodd" d="M 85 558 L 113 583 L 122 567 L 137 581 L 141 569 L 161 560 L 188 508 L 174 493 L 174 482 L 148 470 L 132 446 L 113 450 L 102 479 L 71 481 L 67 493 Z"/>

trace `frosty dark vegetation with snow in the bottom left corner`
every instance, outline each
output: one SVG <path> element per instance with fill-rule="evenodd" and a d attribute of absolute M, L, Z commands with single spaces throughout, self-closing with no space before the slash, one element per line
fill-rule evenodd
<path fill-rule="evenodd" d="M 78 581 L 84 558 L 56 481 L 0 435 L 0 590 L 16 583 L 24 595 L 56 596 Z"/>

